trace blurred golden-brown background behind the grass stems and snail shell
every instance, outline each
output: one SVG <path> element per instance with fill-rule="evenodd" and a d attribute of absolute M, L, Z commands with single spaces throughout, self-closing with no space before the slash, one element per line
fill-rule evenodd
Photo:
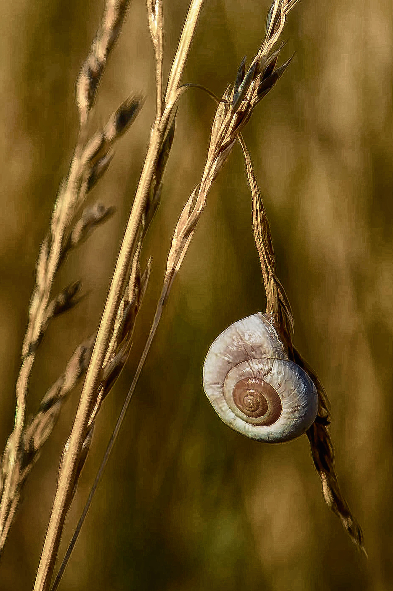
<path fill-rule="evenodd" d="M 164 1 L 165 74 L 188 2 Z M 208 0 L 184 81 L 222 95 L 264 35 L 269 1 Z M 2 2 L 0 20 L 1 449 L 35 261 L 77 136 L 74 84 L 103 2 Z M 240 148 L 208 206 L 173 285 L 156 339 L 61 589 L 327 591 L 393 588 L 391 0 L 301 0 L 282 60 L 296 56 L 244 132 L 271 223 L 295 343 L 332 401 L 343 493 L 365 532 L 366 560 L 323 502 L 305 436 L 277 446 L 232 432 L 202 391 L 212 340 L 264 310 Z M 132 92 L 146 103 L 91 194 L 116 215 L 61 269 L 55 292 L 81 278 L 89 292 L 56 320 L 40 348 L 28 411 L 96 330 L 155 110 L 155 65 L 144 0 L 133 0 L 101 83 L 91 125 Z M 152 275 L 132 356 L 97 420 L 62 551 L 132 380 L 161 289 L 175 222 L 201 176 L 214 104 L 200 90 L 179 103 L 162 202 L 143 261 Z M 0 564 L 0 589 L 31 589 L 78 391 L 24 489 Z"/>

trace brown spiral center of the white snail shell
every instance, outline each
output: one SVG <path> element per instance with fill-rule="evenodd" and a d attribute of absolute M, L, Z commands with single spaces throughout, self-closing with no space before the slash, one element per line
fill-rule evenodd
<path fill-rule="evenodd" d="M 282 406 L 279 395 L 261 378 L 244 378 L 237 382 L 232 392 L 237 408 L 247 417 L 260 418 L 258 425 L 276 423 Z"/>

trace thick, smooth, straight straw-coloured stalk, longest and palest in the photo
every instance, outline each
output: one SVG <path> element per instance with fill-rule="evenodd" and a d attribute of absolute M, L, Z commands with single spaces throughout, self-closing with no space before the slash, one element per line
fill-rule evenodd
<path fill-rule="evenodd" d="M 175 103 L 176 90 L 184 70 L 186 57 L 191 45 L 192 35 L 195 31 L 202 2 L 203 0 L 192 0 L 189 6 L 178 50 L 176 51 L 175 60 L 173 61 L 171 73 L 169 74 L 168 87 L 165 96 L 165 109 L 160 121 L 155 121 L 153 124 L 150 134 L 148 153 L 140 176 L 139 185 L 136 190 L 135 200 L 127 223 L 122 246 L 120 248 L 116 268 L 114 269 L 113 279 L 97 333 L 96 343 L 94 345 L 90 365 L 81 392 L 76 418 L 70 439 L 68 440 L 68 451 L 64 455 L 64 464 L 58 479 L 57 491 L 50 522 L 48 524 L 47 535 L 44 541 L 44 547 L 42 549 L 40 564 L 38 566 L 34 591 L 46 591 L 53 574 L 61 532 L 63 530 L 68 508 L 67 501 L 70 498 L 73 489 L 78 457 L 80 456 L 84 437 L 86 436 L 86 426 L 90 416 L 89 411 L 91 410 L 91 404 L 94 393 L 96 392 L 101 366 L 111 336 L 127 269 L 129 268 L 130 260 L 136 248 L 140 223 L 148 200 L 148 191 L 155 171 L 159 149 L 166 131 L 169 116 L 171 115 Z"/>

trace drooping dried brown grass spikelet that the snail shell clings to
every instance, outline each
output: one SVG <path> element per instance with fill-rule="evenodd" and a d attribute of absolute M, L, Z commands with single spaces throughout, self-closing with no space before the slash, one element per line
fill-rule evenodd
<path fill-rule="evenodd" d="M 353 543 L 359 550 L 362 550 L 366 554 L 363 532 L 340 492 L 335 472 L 333 444 L 327 431 L 327 426 L 330 424 L 329 400 L 319 378 L 308 363 L 304 361 L 299 351 L 293 346 L 292 311 L 284 288 L 276 277 L 270 226 L 254 175 L 250 154 L 243 138 L 239 137 L 239 140 L 244 152 L 248 183 L 250 184 L 253 200 L 254 237 L 260 257 L 264 287 L 266 289 L 266 311 L 273 315 L 274 324 L 283 337 L 284 343 L 287 345 L 289 359 L 306 371 L 318 393 L 318 414 L 315 422 L 307 430 L 307 437 L 310 442 L 314 465 L 322 481 L 322 491 L 326 504 L 338 515 Z"/>

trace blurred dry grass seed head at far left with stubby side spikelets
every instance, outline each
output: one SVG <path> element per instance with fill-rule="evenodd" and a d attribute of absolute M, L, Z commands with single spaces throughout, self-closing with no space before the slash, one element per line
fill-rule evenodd
<path fill-rule="evenodd" d="M 97 205 L 91 208 L 89 213 L 84 212 L 78 219 L 87 194 L 107 170 L 112 160 L 114 143 L 129 128 L 142 106 L 142 99 L 139 96 L 130 96 L 113 113 L 103 129 L 97 131 L 92 137 L 87 137 L 86 125 L 90 108 L 96 96 L 97 85 L 107 57 L 120 33 L 127 4 L 127 1 L 107 0 L 103 24 L 97 33 L 91 54 L 85 63 L 86 67 L 82 69 L 77 84 L 80 134 L 70 170 L 58 191 L 50 231 L 42 242 L 38 256 L 35 287 L 30 301 L 28 327 L 22 345 L 22 363 L 16 386 L 15 426 L 6 443 L 1 463 L 0 539 L 2 544 L 16 509 L 14 495 L 19 479 L 19 456 L 24 453 L 22 437 L 26 427 L 26 396 L 35 354 L 51 319 L 73 307 L 80 299 L 79 282 L 70 284 L 58 296 L 51 299 L 54 277 L 71 249 L 86 239 L 93 229 L 109 219 L 112 214 L 112 208 Z"/>

